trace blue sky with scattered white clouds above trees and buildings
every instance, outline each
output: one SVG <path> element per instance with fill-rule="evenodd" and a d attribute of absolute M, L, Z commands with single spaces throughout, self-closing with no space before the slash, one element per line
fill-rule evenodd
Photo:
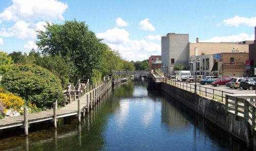
<path fill-rule="evenodd" d="M 161 55 L 161 37 L 189 34 L 189 42 L 254 40 L 255 0 L 0 0 L 0 51 L 30 52 L 47 22 L 84 21 L 128 61 Z"/>

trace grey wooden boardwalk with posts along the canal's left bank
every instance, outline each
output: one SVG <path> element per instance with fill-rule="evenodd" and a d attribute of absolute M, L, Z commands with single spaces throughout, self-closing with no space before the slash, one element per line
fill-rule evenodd
<path fill-rule="evenodd" d="M 54 109 L 42 111 L 39 113 L 28 114 L 28 124 L 52 120 L 56 123 L 57 118 L 77 115 L 80 118 L 81 113 L 89 112 L 93 105 L 100 101 L 100 99 L 112 88 L 112 81 L 100 82 L 98 86 L 95 86 L 89 92 L 82 92 L 78 95 L 78 98 L 74 97 L 65 107 L 56 109 L 56 117 L 54 117 Z M 86 90 L 86 89 L 84 89 Z M 80 119 L 78 119 L 80 121 Z M 22 126 L 26 128 L 25 116 L 16 116 L 0 119 L 0 130 L 5 128 Z M 27 125 L 27 127 L 29 127 Z M 55 127 L 56 128 L 56 127 Z M 26 131 L 26 130 L 25 130 Z M 26 132 L 25 132 L 26 135 Z"/>

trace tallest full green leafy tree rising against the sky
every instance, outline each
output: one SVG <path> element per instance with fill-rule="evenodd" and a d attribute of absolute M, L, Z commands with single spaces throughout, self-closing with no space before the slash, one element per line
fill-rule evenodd
<path fill-rule="evenodd" d="M 65 21 L 64 25 L 48 23 L 46 31 L 37 31 L 36 45 L 44 55 L 60 55 L 76 67 L 76 76 L 90 78 L 93 69 L 100 70 L 104 44 L 84 22 Z"/>

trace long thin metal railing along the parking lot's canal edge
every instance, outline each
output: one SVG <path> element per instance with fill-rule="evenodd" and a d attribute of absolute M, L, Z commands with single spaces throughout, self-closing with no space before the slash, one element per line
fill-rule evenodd
<path fill-rule="evenodd" d="M 172 79 L 166 79 L 166 83 L 190 92 L 195 92 L 195 84 L 180 82 Z M 199 93 L 202 96 L 216 99 L 221 102 L 225 101 L 226 94 L 233 94 L 221 90 L 201 87 L 200 85 L 197 85 L 197 93 Z"/>

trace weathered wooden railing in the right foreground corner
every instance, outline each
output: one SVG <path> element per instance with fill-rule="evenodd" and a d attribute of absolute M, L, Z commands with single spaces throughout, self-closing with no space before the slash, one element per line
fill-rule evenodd
<path fill-rule="evenodd" d="M 255 103 L 256 94 L 226 94 L 225 109 L 235 116 L 236 120 L 241 118 L 247 127 L 250 127 L 251 135 L 255 136 Z"/>

